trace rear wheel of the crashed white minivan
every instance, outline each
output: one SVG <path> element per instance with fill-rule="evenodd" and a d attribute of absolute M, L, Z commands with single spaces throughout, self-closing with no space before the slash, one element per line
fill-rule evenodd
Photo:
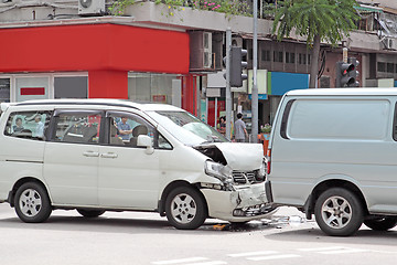
<path fill-rule="evenodd" d="M 44 222 L 52 212 L 46 190 L 36 182 L 26 182 L 17 190 L 14 205 L 18 216 L 25 223 Z"/>

